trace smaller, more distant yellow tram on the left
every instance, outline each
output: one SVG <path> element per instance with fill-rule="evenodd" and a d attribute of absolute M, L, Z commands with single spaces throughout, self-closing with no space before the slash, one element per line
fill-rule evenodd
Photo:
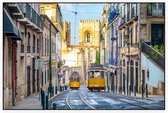
<path fill-rule="evenodd" d="M 78 72 L 74 71 L 72 72 L 70 78 L 69 78 L 69 86 L 71 89 L 79 89 L 80 87 L 80 75 Z"/>

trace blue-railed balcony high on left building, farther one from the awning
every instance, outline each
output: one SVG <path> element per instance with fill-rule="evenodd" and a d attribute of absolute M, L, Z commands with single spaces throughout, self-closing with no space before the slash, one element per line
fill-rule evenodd
<path fill-rule="evenodd" d="M 37 12 L 28 3 L 20 3 L 19 7 L 24 14 L 24 18 L 18 19 L 18 21 L 23 22 L 37 32 L 42 32 L 43 21 Z"/>

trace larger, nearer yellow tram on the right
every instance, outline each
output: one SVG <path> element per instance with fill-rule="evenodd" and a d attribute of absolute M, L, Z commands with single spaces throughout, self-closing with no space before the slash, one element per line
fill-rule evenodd
<path fill-rule="evenodd" d="M 105 74 L 106 69 L 103 65 L 91 64 L 88 68 L 87 87 L 90 91 L 105 90 Z"/>

